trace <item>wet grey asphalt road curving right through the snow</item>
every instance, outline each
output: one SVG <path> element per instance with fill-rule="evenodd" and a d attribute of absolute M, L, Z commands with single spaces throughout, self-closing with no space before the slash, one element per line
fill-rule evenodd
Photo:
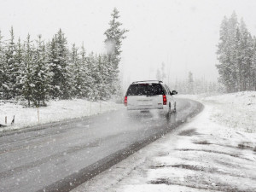
<path fill-rule="evenodd" d="M 69 191 L 172 131 L 202 109 L 177 100 L 177 113 L 125 109 L 0 135 L 0 191 Z"/>

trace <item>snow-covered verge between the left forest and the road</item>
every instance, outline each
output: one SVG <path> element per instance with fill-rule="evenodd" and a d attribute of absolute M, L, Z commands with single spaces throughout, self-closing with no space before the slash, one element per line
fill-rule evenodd
<path fill-rule="evenodd" d="M 42 125 L 64 119 L 86 117 L 98 113 L 124 108 L 115 102 L 88 102 L 82 99 L 50 101 L 45 108 L 24 108 L 15 103 L 0 101 L 0 124 L 7 127 L 0 127 L 0 131 L 15 130 L 32 125 Z M 39 114 L 39 121 L 38 121 Z M 10 125 L 15 115 L 15 124 Z"/>

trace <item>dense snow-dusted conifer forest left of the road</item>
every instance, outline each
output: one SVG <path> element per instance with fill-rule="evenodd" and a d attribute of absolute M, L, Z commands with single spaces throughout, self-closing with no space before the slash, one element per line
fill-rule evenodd
<path fill-rule="evenodd" d="M 26 101 L 27 106 L 45 106 L 49 99 L 86 98 L 108 100 L 119 96 L 119 61 L 125 32 L 119 11 L 113 9 L 106 37 L 105 54 L 88 53 L 84 45 L 69 48 L 61 29 L 52 39 L 42 35 L 25 40 L 0 33 L 0 99 Z"/>

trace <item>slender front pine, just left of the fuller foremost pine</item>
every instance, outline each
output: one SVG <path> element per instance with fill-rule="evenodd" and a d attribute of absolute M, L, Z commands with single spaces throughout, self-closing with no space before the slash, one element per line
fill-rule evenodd
<path fill-rule="evenodd" d="M 33 74 L 33 49 L 32 44 L 30 40 L 30 35 L 27 35 L 26 38 L 26 44 L 25 44 L 25 50 L 24 50 L 24 77 L 22 79 L 22 93 L 25 99 L 27 100 L 28 107 L 31 106 L 32 102 L 32 90 L 35 87 L 35 84 L 33 84 L 32 81 L 32 74 Z"/>

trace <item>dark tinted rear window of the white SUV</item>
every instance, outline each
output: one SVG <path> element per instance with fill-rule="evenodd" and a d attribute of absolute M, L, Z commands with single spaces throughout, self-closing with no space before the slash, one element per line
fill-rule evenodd
<path fill-rule="evenodd" d="M 126 96 L 155 96 L 164 94 L 161 84 L 131 84 Z"/>

